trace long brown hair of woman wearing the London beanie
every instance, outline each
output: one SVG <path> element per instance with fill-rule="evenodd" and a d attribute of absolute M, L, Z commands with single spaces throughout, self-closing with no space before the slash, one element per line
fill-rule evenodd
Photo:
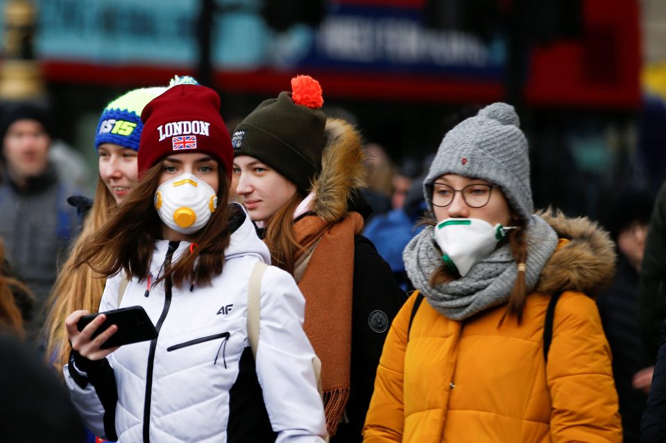
<path fill-rule="evenodd" d="M 124 271 L 127 276 L 145 278 L 153 257 L 155 241 L 161 237 L 162 221 L 157 216 L 153 199 L 163 161 L 148 169 L 126 201 L 99 231 L 87 238 L 76 253 L 74 267 L 89 265 L 99 276 L 108 277 Z M 186 280 L 196 285 L 210 285 L 213 276 L 221 274 L 224 251 L 229 244 L 228 231 L 230 208 L 226 204 L 229 181 L 219 165 L 219 190 L 217 210 L 206 226 L 196 233 L 198 245 L 191 253 L 182 256 L 155 283 L 171 276 L 174 285 L 180 287 Z"/>

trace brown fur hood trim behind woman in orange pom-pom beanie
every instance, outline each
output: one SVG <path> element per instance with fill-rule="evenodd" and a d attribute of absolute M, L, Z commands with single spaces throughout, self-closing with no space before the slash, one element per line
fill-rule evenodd
<path fill-rule="evenodd" d="M 312 183 L 312 211 L 326 222 L 347 215 L 347 200 L 355 187 L 364 185 L 364 151 L 361 135 L 341 119 L 327 119 L 321 173 Z"/>

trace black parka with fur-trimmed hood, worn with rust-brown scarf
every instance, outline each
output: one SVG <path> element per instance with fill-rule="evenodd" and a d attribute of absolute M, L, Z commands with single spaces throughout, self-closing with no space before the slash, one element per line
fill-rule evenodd
<path fill-rule="evenodd" d="M 325 140 L 322 172 L 313 183 L 315 197 L 309 215 L 331 222 L 342 220 L 352 211 L 366 217 L 370 210 L 355 189 L 365 172 L 359 134 L 342 120 L 328 119 Z M 388 327 L 407 299 L 373 243 L 362 235 L 355 235 L 354 240 L 350 397 L 332 443 L 361 442 Z M 305 298 L 307 301 L 307 294 Z"/>

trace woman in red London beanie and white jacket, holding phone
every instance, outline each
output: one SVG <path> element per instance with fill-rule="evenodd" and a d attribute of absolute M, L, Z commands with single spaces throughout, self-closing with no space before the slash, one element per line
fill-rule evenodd
<path fill-rule="evenodd" d="M 65 321 L 67 386 L 85 424 L 110 440 L 323 442 L 305 301 L 287 272 L 264 265 L 243 208 L 225 204 L 232 148 L 219 108 L 198 85 L 144 108 L 139 184 L 78 251 L 76 263 L 108 281 L 101 315 L 82 331 L 85 311 Z M 93 333 L 104 312 L 127 306 L 144 308 L 157 337 L 106 349 L 122 326 Z"/>

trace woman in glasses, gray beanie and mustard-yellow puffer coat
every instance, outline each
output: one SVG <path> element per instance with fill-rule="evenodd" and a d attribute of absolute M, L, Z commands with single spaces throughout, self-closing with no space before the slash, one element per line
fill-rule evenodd
<path fill-rule="evenodd" d="M 429 226 L 403 254 L 418 291 L 386 338 L 364 442 L 622 441 L 591 298 L 613 244 L 588 219 L 533 213 L 518 126 L 495 103 L 439 147 Z"/>

